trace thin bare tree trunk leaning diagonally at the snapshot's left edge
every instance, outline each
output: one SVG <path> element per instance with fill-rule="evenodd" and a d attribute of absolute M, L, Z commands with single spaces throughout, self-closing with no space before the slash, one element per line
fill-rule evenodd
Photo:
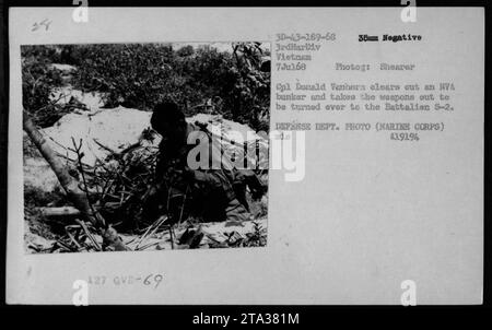
<path fill-rule="evenodd" d="M 67 197 L 74 204 L 77 209 L 82 213 L 85 221 L 89 221 L 96 227 L 101 235 L 103 236 L 103 241 L 105 246 L 112 246 L 117 251 L 127 250 L 127 247 L 122 243 L 118 233 L 112 226 L 107 225 L 103 216 L 93 211 L 91 204 L 89 203 L 87 197 L 84 191 L 79 188 L 79 182 L 73 178 L 60 162 L 58 156 L 55 154 L 52 149 L 46 142 L 46 139 L 39 133 L 39 131 L 34 126 L 30 118 L 30 115 L 24 111 L 23 114 L 23 128 L 34 144 L 37 146 L 43 157 L 48 162 L 52 172 L 60 181 L 61 187 L 63 187 L 67 192 Z"/>

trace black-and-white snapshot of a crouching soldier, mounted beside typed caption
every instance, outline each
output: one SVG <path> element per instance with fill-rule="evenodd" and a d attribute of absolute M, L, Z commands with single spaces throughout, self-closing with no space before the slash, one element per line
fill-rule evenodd
<path fill-rule="evenodd" d="M 269 43 L 21 57 L 26 254 L 267 245 Z"/>

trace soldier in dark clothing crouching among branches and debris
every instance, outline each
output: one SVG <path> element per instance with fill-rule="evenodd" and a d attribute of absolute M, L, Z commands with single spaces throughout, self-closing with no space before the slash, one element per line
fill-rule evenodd
<path fill-rule="evenodd" d="M 174 103 L 159 104 L 152 114 L 151 125 L 163 138 L 155 168 L 156 186 L 150 192 L 151 197 L 162 198 L 160 201 L 155 198 L 151 200 L 163 203 L 166 200 L 165 190 L 172 189 L 185 195 L 189 200 L 190 213 L 206 222 L 241 222 L 251 219 L 246 187 L 249 187 L 256 198 L 261 197 L 266 190 L 253 170 L 236 169 L 224 163 L 216 145 L 208 153 L 209 164 L 215 162 L 221 164 L 220 168 L 191 169 L 187 158 L 196 144 L 188 144 L 188 137 L 198 131 L 201 134 L 206 132 L 199 126 L 188 123 Z"/>

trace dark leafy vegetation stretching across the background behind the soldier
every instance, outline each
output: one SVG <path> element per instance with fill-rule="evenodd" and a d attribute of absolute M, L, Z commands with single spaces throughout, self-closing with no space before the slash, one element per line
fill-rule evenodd
<path fill-rule="evenodd" d="M 212 111 L 268 131 L 269 54 L 260 43 L 231 44 L 231 51 L 166 44 L 24 46 L 22 57 L 24 108 L 42 127 L 68 110 L 49 98 L 62 84 L 59 70 L 48 66 L 58 62 L 77 67 L 71 84 L 102 92 L 106 107 L 152 110 L 172 99 L 186 115 Z"/>

